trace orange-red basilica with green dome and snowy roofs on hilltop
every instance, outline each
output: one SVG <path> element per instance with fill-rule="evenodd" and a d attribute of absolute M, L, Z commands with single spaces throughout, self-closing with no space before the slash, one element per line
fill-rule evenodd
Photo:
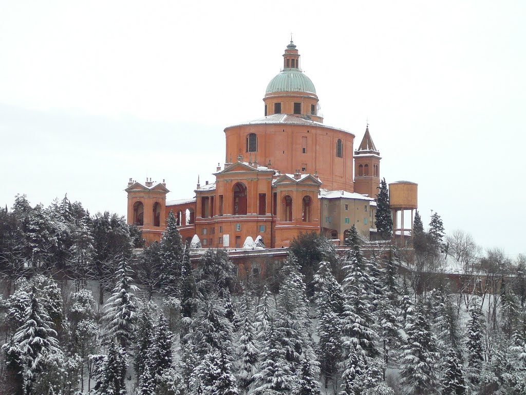
<path fill-rule="evenodd" d="M 312 231 L 338 244 L 352 224 L 367 240 L 375 234 L 381 157 L 369 128 L 355 150 L 354 134 L 323 123 L 292 41 L 282 57 L 261 118 L 226 127 L 215 182 L 198 181 L 192 197 L 170 201 L 164 180 L 129 180 L 128 223 L 148 243 L 160 240 L 170 211 L 183 239 L 197 235 L 204 248 L 241 248 L 256 239 L 280 248 Z"/>

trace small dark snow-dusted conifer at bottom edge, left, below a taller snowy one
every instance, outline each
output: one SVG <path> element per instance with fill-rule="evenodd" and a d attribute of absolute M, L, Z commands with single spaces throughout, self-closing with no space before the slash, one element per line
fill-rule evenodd
<path fill-rule="evenodd" d="M 123 348 L 118 347 L 115 341 L 110 341 L 108 353 L 97 369 L 95 393 L 97 395 L 127 395 L 126 368 L 126 352 Z"/>

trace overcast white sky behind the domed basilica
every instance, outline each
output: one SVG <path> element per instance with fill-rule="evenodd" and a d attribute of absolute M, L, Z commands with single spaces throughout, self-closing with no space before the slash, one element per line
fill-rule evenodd
<path fill-rule="evenodd" d="M 526 252 L 526 2 L 0 0 L 0 204 L 125 215 L 129 177 L 193 196 L 224 128 L 263 114 L 290 33 L 325 123 L 369 118 L 388 182 Z"/>

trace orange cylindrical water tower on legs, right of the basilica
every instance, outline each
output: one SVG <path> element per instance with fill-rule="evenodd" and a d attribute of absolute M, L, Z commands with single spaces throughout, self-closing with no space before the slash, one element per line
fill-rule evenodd
<path fill-rule="evenodd" d="M 393 214 L 393 240 L 406 245 L 406 237 L 413 234 L 414 210 L 418 209 L 418 184 L 397 181 L 389 184 L 389 207 Z"/>

